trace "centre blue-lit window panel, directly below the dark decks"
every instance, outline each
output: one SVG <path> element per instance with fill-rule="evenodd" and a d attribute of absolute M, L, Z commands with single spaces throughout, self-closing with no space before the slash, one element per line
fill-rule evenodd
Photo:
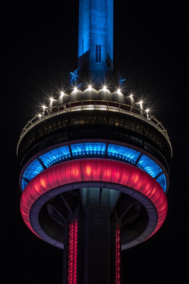
<path fill-rule="evenodd" d="M 93 156 L 104 157 L 105 143 L 79 143 L 71 145 L 73 157 Z"/>

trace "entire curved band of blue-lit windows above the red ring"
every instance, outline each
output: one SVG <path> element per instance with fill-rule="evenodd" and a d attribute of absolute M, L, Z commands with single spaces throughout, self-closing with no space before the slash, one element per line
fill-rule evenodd
<path fill-rule="evenodd" d="M 107 147 L 107 154 L 106 153 Z M 72 144 L 70 149 L 68 146 L 63 146 L 52 151 L 49 151 L 37 159 L 35 159 L 25 170 L 22 178 L 22 189 L 26 187 L 27 183 L 33 179 L 37 174 L 42 172 L 45 168 L 48 168 L 54 164 L 58 164 L 65 160 L 82 157 L 107 157 L 111 159 L 121 160 L 129 164 L 141 168 L 155 178 L 158 183 L 166 191 L 166 178 L 162 173 L 162 169 L 152 159 L 145 155 L 141 155 L 133 149 L 122 147 L 119 145 L 105 143 L 78 143 Z M 138 161 L 138 162 L 137 162 Z"/>

